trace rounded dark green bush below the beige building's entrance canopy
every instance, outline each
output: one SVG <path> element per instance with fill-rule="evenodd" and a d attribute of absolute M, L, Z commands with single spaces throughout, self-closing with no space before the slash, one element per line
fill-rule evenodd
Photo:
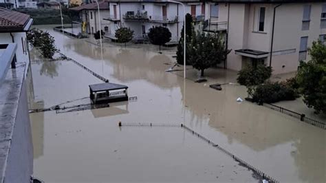
<path fill-rule="evenodd" d="M 272 76 L 272 67 L 257 65 L 256 68 L 248 65 L 238 73 L 237 81 L 246 87 L 259 85 Z"/>

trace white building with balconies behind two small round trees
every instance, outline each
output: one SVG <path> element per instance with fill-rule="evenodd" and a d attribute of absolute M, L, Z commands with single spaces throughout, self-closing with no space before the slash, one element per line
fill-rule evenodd
<path fill-rule="evenodd" d="M 188 1 L 184 4 L 186 13 L 192 14 L 197 21 L 204 21 L 204 3 Z M 135 39 L 144 39 L 153 26 L 165 26 L 172 34 L 171 42 L 180 39 L 184 21 L 184 10 L 180 4 L 168 1 L 109 0 L 109 6 L 110 14 L 103 18 L 111 22 L 109 34 L 112 38 L 119 26 L 131 28 Z"/>

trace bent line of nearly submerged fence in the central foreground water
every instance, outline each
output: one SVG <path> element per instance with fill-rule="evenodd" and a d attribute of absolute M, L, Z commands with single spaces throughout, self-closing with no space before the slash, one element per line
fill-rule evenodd
<path fill-rule="evenodd" d="M 273 177 L 270 177 L 263 171 L 260 171 L 259 169 L 255 168 L 248 162 L 241 160 L 237 155 L 234 155 L 230 151 L 224 149 L 219 144 L 216 144 L 212 140 L 209 140 L 208 138 L 202 136 L 201 134 L 193 131 L 193 129 L 187 127 L 184 124 L 177 125 L 177 124 L 173 124 L 173 123 L 166 124 L 166 123 L 151 123 L 151 122 L 149 122 L 149 123 L 146 123 L 146 122 L 119 122 L 118 125 L 119 125 L 119 127 L 181 127 L 183 129 L 185 129 L 186 131 L 192 133 L 194 136 L 197 136 L 198 138 L 204 140 L 205 142 L 208 142 L 208 144 L 212 145 L 213 147 L 221 150 L 223 153 L 230 156 L 235 161 L 239 162 L 240 166 L 244 166 L 244 167 L 250 169 L 251 171 L 254 172 L 255 175 L 259 176 L 261 179 L 268 180 L 268 182 L 279 182 L 278 180 L 274 179 Z"/>

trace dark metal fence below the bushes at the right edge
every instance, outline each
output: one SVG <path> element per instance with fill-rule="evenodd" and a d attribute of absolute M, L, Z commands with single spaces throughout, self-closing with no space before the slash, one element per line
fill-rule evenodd
<path fill-rule="evenodd" d="M 320 122 L 318 120 L 308 118 L 307 116 L 305 116 L 305 114 L 299 114 L 295 111 L 291 111 L 290 109 L 285 109 L 284 107 L 279 107 L 277 105 L 273 105 L 273 104 L 269 104 L 269 103 L 263 103 L 263 106 L 268 107 L 270 109 L 274 109 L 275 111 L 279 111 L 283 114 L 287 114 L 288 116 L 292 116 L 292 117 L 297 118 L 303 122 L 307 122 L 310 125 L 314 125 L 321 129 L 326 129 L 326 124 L 324 122 Z"/>

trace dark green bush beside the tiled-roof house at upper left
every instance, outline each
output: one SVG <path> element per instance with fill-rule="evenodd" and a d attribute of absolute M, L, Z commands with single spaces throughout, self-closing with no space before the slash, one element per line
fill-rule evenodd
<path fill-rule="evenodd" d="M 59 51 L 54 45 L 54 37 L 49 32 L 33 28 L 28 32 L 27 39 L 29 43 L 41 51 L 45 58 L 52 58 Z"/>

